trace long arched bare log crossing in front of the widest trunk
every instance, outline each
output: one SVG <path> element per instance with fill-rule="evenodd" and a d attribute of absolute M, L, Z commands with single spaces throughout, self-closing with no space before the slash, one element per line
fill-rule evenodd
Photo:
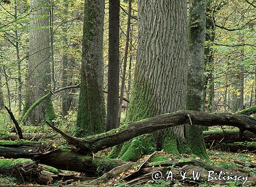
<path fill-rule="evenodd" d="M 240 137 L 242 137 L 245 130 L 256 133 L 256 119 L 247 115 L 197 111 L 178 111 L 175 113 L 163 114 L 138 122 L 128 123 L 117 129 L 112 129 L 108 132 L 84 139 L 71 137 L 47 122 L 50 127 L 59 132 L 63 138 L 78 148 L 79 151 L 89 155 L 102 149 L 121 144 L 145 133 L 191 123 L 204 126 L 235 126 L 240 129 Z"/>

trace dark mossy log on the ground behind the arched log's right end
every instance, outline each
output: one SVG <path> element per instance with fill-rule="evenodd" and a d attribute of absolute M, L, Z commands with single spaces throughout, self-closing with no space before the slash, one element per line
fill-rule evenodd
<path fill-rule="evenodd" d="M 243 137 L 239 137 L 238 130 L 216 130 L 216 131 L 203 131 L 205 143 L 216 141 L 219 143 L 234 143 L 234 142 L 253 142 L 256 141 L 256 135 L 250 131 L 244 131 Z"/>

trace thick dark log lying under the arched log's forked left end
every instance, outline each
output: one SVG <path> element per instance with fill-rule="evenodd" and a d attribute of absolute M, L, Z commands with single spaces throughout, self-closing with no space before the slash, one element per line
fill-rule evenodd
<path fill-rule="evenodd" d="M 0 141 L 0 156 L 30 158 L 62 170 L 77 171 L 87 176 L 99 176 L 127 162 L 87 156 L 68 148 L 57 149 L 50 144 L 29 141 Z"/>

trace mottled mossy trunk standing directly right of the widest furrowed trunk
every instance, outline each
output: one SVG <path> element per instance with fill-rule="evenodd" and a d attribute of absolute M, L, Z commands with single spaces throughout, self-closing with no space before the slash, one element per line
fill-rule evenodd
<path fill-rule="evenodd" d="M 206 0 L 191 0 L 188 17 L 188 44 L 190 58 L 188 63 L 186 108 L 193 111 L 204 111 L 204 46 L 206 30 Z M 186 140 L 191 151 L 207 157 L 202 127 L 186 126 Z M 197 146 L 195 146 L 197 145 Z"/>

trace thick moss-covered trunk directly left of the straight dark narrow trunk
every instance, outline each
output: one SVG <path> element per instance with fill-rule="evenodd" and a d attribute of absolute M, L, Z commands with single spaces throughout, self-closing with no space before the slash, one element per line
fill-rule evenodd
<path fill-rule="evenodd" d="M 104 1 L 84 3 L 82 69 L 76 136 L 89 136 L 103 131 L 103 20 Z"/>

